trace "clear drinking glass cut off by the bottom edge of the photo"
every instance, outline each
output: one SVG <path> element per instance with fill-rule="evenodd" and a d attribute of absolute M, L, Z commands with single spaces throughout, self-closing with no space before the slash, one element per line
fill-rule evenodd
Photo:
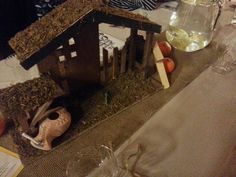
<path fill-rule="evenodd" d="M 128 177 L 127 171 L 118 165 L 118 160 L 111 148 L 87 148 L 78 152 L 68 162 L 67 177 Z"/>

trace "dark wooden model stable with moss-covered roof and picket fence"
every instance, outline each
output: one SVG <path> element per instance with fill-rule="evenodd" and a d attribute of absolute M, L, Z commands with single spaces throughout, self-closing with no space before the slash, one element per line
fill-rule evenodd
<path fill-rule="evenodd" d="M 121 51 L 114 49 L 110 64 L 104 49 L 103 64 L 100 65 L 99 23 L 130 28 L 126 45 Z M 16 34 L 9 44 L 25 69 L 38 64 L 40 72 L 51 72 L 64 89 L 70 89 L 75 81 L 99 83 L 101 69 L 103 81 L 107 81 L 108 66 L 112 66 L 113 78 L 128 68 L 132 69 L 135 65 L 138 30 L 146 32 L 143 59 L 139 65 L 139 69 L 146 75 L 147 65 L 152 59 L 154 33 L 159 33 L 161 27 L 141 15 L 87 0 L 70 0 L 63 3 Z M 71 38 L 73 43 L 69 42 Z"/>

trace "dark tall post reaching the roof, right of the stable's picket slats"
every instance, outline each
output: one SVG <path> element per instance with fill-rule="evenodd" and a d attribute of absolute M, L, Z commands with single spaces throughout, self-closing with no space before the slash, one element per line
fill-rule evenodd
<path fill-rule="evenodd" d="M 129 69 L 133 69 L 135 57 L 136 57 L 136 45 L 135 38 L 137 36 L 137 29 L 131 29 L 130 31 L 130 45 L 129 45 Z"/>

